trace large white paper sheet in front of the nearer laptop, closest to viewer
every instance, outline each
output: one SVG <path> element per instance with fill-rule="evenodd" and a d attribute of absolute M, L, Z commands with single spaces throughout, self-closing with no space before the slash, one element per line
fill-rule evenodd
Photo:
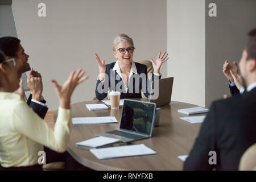
<path fill-rule="evenodd" d="M 100 149 L 90 149 L 98 159 L 121 158 L 126 156 L 150 155 L 156 154 L 154 150 L 144 144 L 135 144 L 132 146 L 108 147 Z"/>

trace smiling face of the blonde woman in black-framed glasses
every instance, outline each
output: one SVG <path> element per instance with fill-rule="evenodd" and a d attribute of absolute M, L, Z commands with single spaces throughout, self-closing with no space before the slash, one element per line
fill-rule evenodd
<path fill-rule="evenodd" d="M 131 47 L 132 46 L 129 43 L 123 42 L 123 41 L 119 42 L 117 46 L 115 46 L 116 49 L 119 49 L 119 48 L 127 49 Z M 122 54 L 117 50 L 117 51 L 113 51 L 113 54 L 115 58 L 118 59 L 120 64 L 131 64 L 131 61 L 133 60 L 133 53 L 129 53 L 128 51 L 126 51 L 125 54 Z"/>

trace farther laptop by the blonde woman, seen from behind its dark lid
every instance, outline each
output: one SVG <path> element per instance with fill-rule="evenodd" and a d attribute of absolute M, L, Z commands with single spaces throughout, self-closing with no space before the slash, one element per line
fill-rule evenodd
<path fill-rule="evenodd" d="M 174 84 L 174 77 L 163 78 L 160 80 L 153 80 L 151 86 L 150 101 L 156 104 L 156 107 L 167 105 L 171 102 L 172 85 Z M 154 88 L 158 86 L 158 89 Z M 157 93 L 158 92 L 158 93 Z"/>

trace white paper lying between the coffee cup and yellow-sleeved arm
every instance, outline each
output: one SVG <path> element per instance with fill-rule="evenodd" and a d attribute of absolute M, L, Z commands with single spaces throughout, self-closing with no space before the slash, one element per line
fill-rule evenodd
<path fill-rule="evenodd" d="M 90 125 L 101 123 L 117 123 L 117 119 L 112 116 L 107 117 L 85 117 L 85 118 L 72 118 L 73 125 Z"/>

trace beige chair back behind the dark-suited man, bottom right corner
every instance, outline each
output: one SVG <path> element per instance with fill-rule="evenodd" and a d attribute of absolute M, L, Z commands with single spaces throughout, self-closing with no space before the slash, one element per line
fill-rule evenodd
<path fill-rule="evenodd" d="M 242 155 L 239 164 L 240 171 L 256 171 L 256 143 L 250 146 Z"/>

